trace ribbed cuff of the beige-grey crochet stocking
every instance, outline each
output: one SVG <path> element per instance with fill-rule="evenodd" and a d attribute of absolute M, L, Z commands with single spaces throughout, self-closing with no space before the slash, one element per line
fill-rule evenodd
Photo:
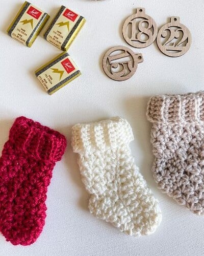
<path fill-rule="evenodd" d="M 203 122 L 204 92 L 152 96 L 148 102 L 147 119 L 157 123 Z"/>

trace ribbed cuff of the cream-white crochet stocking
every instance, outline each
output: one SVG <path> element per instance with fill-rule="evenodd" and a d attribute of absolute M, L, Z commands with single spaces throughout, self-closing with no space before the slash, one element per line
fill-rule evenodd
<path fill-rule="evenodd" d="M 75 153 L 107 150 L 134 140 L 130 124 L 123 118 L 75 124 L 72 127 L 72 147 Z"/>

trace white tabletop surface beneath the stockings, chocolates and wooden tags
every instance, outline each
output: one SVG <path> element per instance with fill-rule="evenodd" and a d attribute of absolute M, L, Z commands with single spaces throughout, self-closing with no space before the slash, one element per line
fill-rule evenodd
<path fill-rule="evenodd" d="M 66 153 L 58 162 L 47 193 L 47 217 L 38 240 L 31 246 L 13 246 L 0 235 L 0 255 L 203 255 L 204 217 L 193 215 L 161 194 L 151 175 L 150 127 L 145 112 L 153 94 L 177 94 L 203 89 L 203 0 L 33 0 L 53 17 L 61 5 L 82 14 L 87 23 L 68 51 L 83 75 L 49 96 L 34 71 L 61 51 L 42 37 L 27 48 L 5 31 L 23 1 L 0 0 L 0 150 L 14 119 L 24 115 L 63 133 Z M 101 58 L 112 46 L 127 46 L 121 27 L 135 8 L 144 7 L 158 27 L 170 16 L 180 16 L 192 34 L 190 50 L 182 57 L 162 54 L 156 42 L 144 49 L 144 62 L 129 80 L 109 79 Z M 46 27 L 46 26 L 45 26 Z M 154 234 L 134 238 L 88 211 L 77 156 L 70 146 L 71 126 L 111 116 L 125 117 L 132 125 L 131 143 L 142 175 L 160 201 L 163 221 Z"/>

